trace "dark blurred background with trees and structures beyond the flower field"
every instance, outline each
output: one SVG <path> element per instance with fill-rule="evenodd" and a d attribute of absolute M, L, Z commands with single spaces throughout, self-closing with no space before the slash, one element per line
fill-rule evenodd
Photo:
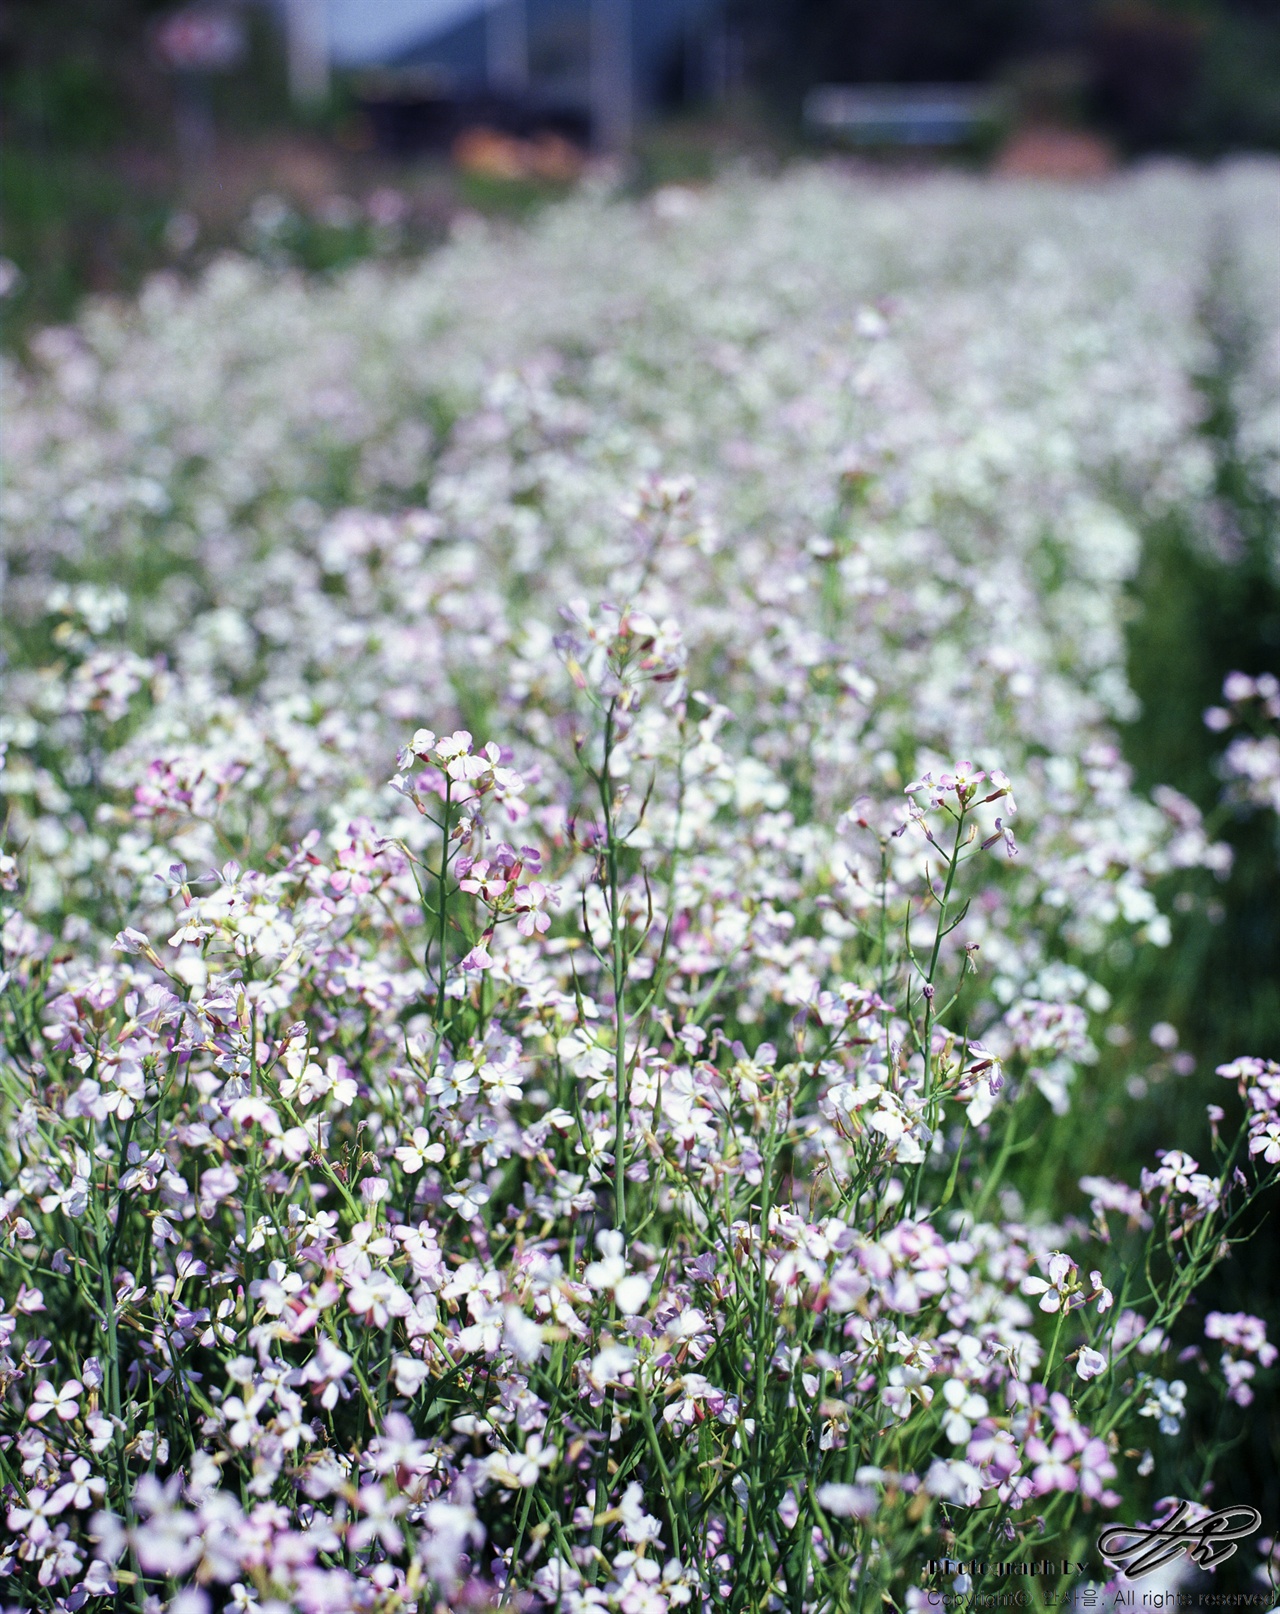
<path fill-rule="evenodd" d="M 1280 148 L 1277 0 L 3 0 L 5 341 L 228 245 L 329 270 L 592 165 L 1098 178 Z"/>

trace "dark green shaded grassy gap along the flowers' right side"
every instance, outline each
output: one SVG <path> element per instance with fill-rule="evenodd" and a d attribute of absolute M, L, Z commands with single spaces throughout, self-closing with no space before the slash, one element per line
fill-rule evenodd
<path fill-rule="evenodd" d="M 1280 1057 L 1277 822 L 1267 812 L 1220 805 L 1225 741 L 1204 723 L 1206 709 L 1222 699 L 1227 673 L 1257 675 L 1280 665 L 1280 505 L 1264 484 L 1262 466 L 1241 450 L 1236 397 L 1254 332 L 1241 313 L 1227 255 L 1204 299 L 1203 320 L 1214 358 L 1198 378 L 1201 429 L 1214 455 L 1207 529 L 1175 516 L 1144 534 L 1128 633 L 1128 679 L 1141 717 L 1125 730 L 1123 742 L 1138 783 L 1146 789 L 1173 784 L 1190 796 L 1230 843 L 1235 862 L 1222 883 L 1206 880 L 1186 891 L 1183 881 L 1182 896 L 1170 881 L 1172 944 L 1148 959 L 1136 980 L 1114 983 L 1117 996 L 1135 1002 L 1140 1025 L 1173 1022 L 1196 1056 L 1194 1077 L 1162 1088 L 1159 1101 L 1152 1094 L 1135 1106 L 1102 1144 L 1114 1169 L 1125 1159 L 1149 1157 L 1170 1135 L 1206 1143 L 1206 1106 L 1230 1109 L 1236 1102 L 1214 1067 L 1240 1054 Z M 1198 1314 L 1188 1319 L 1188 1340 L 1203 1332 L 1201 1312 L 1214 1309 L 1262 1315 L 1272 1335 L 1280 1332 L 1277 1210 L 1272 1204 L 1269 1217 L 1254 1222 L 1253 1243 L 1209 1278 Z M 1186 1378 L 1194 1385 L 1194 1365 Z M 1235 1441 L 1219 1466 L 1217 1506 L 1248 1503 L 1264 1519 L 1280 1512 L 1280 1406 L 1274 1398 L 1262 1394 L 1248 1409 L 1214 1407 L 1212 1414 L 1201 1407 L 1193 1411 L 1190 1430 L 1198 1449 L 1224 1436 Z M 1235 1570 L 1243 1575 L 1249 1567 L 1232 1566 L 1232 1583 L 1240 1578 Z"/>

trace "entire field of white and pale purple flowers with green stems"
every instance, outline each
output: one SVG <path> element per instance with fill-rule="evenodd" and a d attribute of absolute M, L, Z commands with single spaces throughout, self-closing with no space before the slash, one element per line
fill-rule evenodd
<path fill-rule="evenodd" d="M 10 366 L 6 1606 L 915 1609 L 1199 1504 L 1280 1067 L 1025 1165 L 1230 865 L 1122 760 L 1125 587 L 1227 249 L 1280 463 L 1278 218 L 588 192 Z"/>

